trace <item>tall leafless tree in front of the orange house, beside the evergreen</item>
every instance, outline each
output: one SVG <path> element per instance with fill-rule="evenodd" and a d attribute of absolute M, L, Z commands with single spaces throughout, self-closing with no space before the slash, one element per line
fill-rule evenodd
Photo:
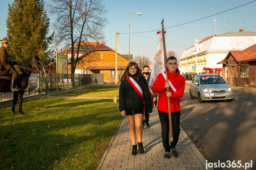
<path fill-rule="evenodd" d="M 90 62 L 90 57 L 81 57 L 92 53 L 88 43 L 104 39 L 103 27 L 107 24 L 107 10 L 102 0 L 49 0 L 47 4 L 51 19 L 54 20 L 56 44 L 70 47 L 71 73 L 75 72 L 79 61 Z M 93 55 L 90 55 L 93 56 Z"/>

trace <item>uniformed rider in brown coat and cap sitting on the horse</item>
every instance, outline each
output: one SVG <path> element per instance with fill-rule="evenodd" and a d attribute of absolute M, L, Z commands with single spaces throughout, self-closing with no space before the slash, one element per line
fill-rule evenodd
<path fill-rule="evenodd" d="M 0 47 L 1 73 L 2 74 L 11 74 L 12 75 L 11 91 L 12 92 L 19 91 L 20 88 L 16 87 L 16 80 L 18 78 L 18 72 L 15 70 L 15 68 L 13 66 L 13 61 L 9 60 L 9 54 L 6 50 L 6 48 L 9 46 L 8 40 L 7 39 L 1 40 L 1 45 L 2 45 Z"/>

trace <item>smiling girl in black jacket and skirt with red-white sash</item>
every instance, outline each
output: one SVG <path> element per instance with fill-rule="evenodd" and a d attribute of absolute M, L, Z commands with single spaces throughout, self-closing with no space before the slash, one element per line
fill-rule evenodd
<path fill-rule="evenodd" d="M 141 99 L 140 95 L 133 88 L 131 83 L 128 81 L 129 78 L 135 80 L 143 91 L 144 101 Z M 146 82 L 145 77 L 143 76 L 141 70 L 138 67 L 138 64 L 135 62 L 130 62 L 125 72 L 120 80 L 119 88 L 119 110 L 122 116 L 127 115 L 127 119 L 130 127 L 130 136 L 133 144 L 132 155 L 137 154 L 137 145 L 136 145 L 136 133 L 139 146 L 139 153 L 143 153 L 143 145 L 141 142 L 142 139 L 142 127 L 141 121 L 143 116 L 144 106 L 147 109 L 148 113 L 152 112 L 152 101 L 151 95 Z M 145 105 L 144 105 L 145 104 Z M 135 131 L 136 128 L 136 131 Z"/>

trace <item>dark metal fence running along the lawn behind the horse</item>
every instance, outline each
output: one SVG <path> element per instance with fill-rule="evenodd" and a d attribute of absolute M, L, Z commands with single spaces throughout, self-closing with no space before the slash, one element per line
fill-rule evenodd
<path fill-rule="evenodd" d="M 37 73 L 33 73 L 37 74 Z M 47 95 L 47 92 L 83 85 L 96 85 L 103 83 L 103 74 L 53 74 L 38 75 L 39 89 L 25 92 L 24 97 L 33 94 Z M 0 100 L 12 99 L 13 93 L 0 93 Z"/>

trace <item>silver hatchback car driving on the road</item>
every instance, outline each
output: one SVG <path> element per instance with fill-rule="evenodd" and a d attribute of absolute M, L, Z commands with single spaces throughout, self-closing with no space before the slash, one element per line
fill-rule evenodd
<path fill-rule="evenodd" d="M 233 91 L 220 75 L 195 75 L 190 83 L 190 98 L 198 98 L 199 103 L 210 100 L 233 100 Z"/>

